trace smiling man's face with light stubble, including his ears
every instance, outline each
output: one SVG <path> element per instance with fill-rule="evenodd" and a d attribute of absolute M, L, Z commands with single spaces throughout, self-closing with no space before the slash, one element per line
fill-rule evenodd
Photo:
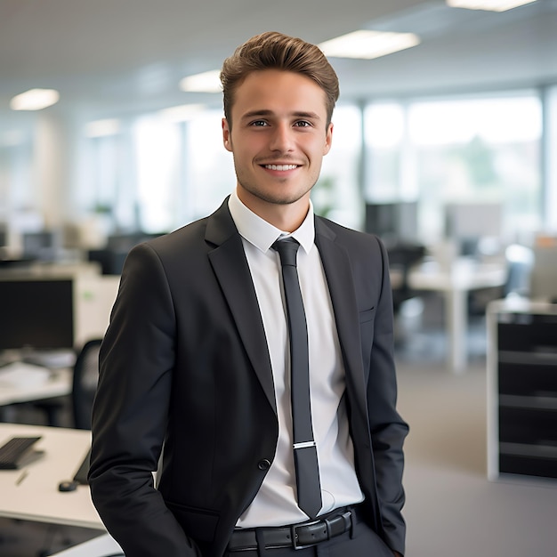
<path fill-rule="evenodd" d="M 222 133 L 234 157 L 238 197 L 259 214 L 296 203 L 307 210 L 331 147 L 325 92 L 300 74 L 257 71 L 239 85 L 231 120 L 222 121 Z"/>

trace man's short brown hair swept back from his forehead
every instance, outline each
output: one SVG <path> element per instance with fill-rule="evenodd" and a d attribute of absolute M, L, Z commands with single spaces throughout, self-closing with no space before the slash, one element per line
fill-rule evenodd
<path fill-rule="evenodd" d="M 315 44 L 300 38 L 269 31 L 250 38 L 222 64 L 221 83 L 224 116 L 232 124 L 230 112 L 234 93 L 253 71 L 281 69 L 302 74 L 312 79 L 325 92 L 327 98 L 327 125 L 339 95 L 338 77 L 325 54 Z"/>

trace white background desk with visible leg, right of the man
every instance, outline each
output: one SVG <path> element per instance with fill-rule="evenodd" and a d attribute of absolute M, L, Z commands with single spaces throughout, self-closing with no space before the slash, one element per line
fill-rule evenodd
<path fill-rule="evenodd" d="M 424 262 L 409 271 L 408 286 L 412 290 L 430 290 L 444 296 L 447 363 L 453 373 L 463 372 L 467 363 L 468 293 L 480 288 L 501 287 L 506 275 L 503 263 L 480 263 L 465 258 L 447 266 Z"/>

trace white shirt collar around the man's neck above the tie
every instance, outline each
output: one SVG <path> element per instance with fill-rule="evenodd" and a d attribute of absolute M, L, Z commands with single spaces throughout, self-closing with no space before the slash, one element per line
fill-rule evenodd
<path fill-rule="evenodd" d="M 267 252 L 270 246 L 281 236 L 292 236 L 295 238 L 306 253 L 309 253 L 313 246 L 315 225 L 313 222 L 313 205 L 311 200 L 308 214 L 306 214 L 300 227 L 292 232 L 292 234 L 279 230 L 269 222 L 264 221 L 259 215 L 254 214 L 251 209 L 240 201 L 236 190 L 230 194 L 229 209 L 240 236 L 263 253 Z"/>

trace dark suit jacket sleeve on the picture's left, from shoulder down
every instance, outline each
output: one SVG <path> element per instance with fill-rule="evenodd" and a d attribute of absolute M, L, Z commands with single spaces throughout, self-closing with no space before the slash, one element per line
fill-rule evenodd
<path fill-rule="evenodd" d="M 154 487 L 174 366 L 174 311 L 165 272 L 148 245 L 122 273 L 101 346 L 89 482 L 109 533 L 134 557 L 196 557 Z"/>

